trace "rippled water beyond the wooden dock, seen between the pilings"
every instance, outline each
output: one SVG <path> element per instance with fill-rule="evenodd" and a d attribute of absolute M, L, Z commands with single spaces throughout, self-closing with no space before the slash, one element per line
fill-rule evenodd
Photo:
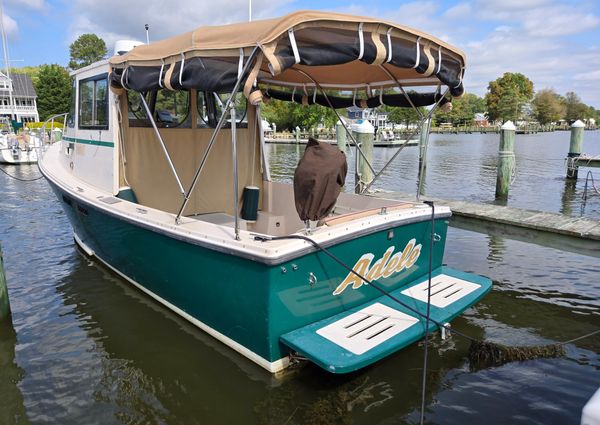
<path fill-rule="evenodd" d="M 443 199 L 494 202 L 498 134 L 432 134 L 424 184 L 426 195 Z M 600 190 L 600 168 L 581 168 L 576 183 L 565 181 L 565 157 L 569 150 L 568 131 L 517 135 L 515 141 L 516 175 L 507 205 L 541 211 L 560 212 L 572 216 L 600 219 L 600 195 L 590 195 L 582 209 L 585 178 L 588 171 Z M 275 157 L 273 177 L 290 179 L 304 152 L 303 146 L 269 145 Z M 380 170 L 397 148 L 376 148 L 374 168 Z M 600 131 L 586 131 L 583 152 L 600 155 Z M 407 147 L 382 175 L 375 187 L 406 194 L 417 189 L 418 148 Z M 346 189 L 353 191 L 355 155 L 348 149 Z M 588 182 L 591 188 L 591 180 Z M 588 189 L 589 190 L 589 189 Z M 591 191 L 588 191 L 588 194 Z"/>

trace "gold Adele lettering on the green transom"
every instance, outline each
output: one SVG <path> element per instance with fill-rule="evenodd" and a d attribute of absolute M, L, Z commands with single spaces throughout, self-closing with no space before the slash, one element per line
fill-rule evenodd
<path fill-rule="evenodd" d="M 392 253 L 394 252 L 395 247 L 390 246 L 383 254 L 383 257 L 377 260 L 372 267 L 371 262 L 373 261 L 373 258 L 375 258 L 375 255 L 371 253 L 363 254 L 352 270 L 361 276 L 366 277 L 370 281 L 377 280 L 381 277 L 390 277 L 394 273 L 399 273 L 404 269 L 412 267 L 417 262 L 419 255 L 421 255 L 421 244 L 415 245 L 416 242 L 415 239 L 411 239 L 406 244 L 406 247 L 404 247 L 404 250 L 399 251 L 394 255 L 392 255 Z M 366 285 L 367 283 L 356 274 L 350 272 L 348 273 L 348 276 L 346 276 L 346 279 L 335 288 L 333 295 L 341 294 L 350 285 L 352 285 L 352 289 L 358 289 L 363 284 Z"/>

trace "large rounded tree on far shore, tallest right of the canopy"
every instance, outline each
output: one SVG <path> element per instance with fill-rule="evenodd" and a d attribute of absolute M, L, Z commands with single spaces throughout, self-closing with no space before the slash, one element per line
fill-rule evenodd
<path fill-rule="evenodd" d="M 490 121 L 513 120 L 522 116 L 523 106 L 533 97 L 533 83 L 519 73 L 506 72 L 495 81 L 490 81 L 485 95 Z"/>

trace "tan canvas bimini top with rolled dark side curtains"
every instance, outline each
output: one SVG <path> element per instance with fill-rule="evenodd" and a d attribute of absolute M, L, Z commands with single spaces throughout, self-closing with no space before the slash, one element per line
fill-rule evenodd
<path fill-rule="evenodd" d="M 315 82 L 367 92 L 398 83 L 443 85 L 453 96 L 464 92 L 465 55 L 459 49 L 395 23 L 316 11 L 205 26 L 137 46 L 110 59 L 111 85 L 140 92 L 230 91 L 248 60 L 252 66 L 243 75 L 247 95 L 254 82 L 307 93 Z"/>

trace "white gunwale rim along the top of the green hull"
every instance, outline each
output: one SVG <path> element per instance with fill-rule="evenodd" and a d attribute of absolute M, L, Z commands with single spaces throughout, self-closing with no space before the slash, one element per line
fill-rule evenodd
<path fill-rule="evenodd" d="M 112 193 L 99 190 L 75 178 L 61 160 L 60 143 L 48 148 L 40 161 L 40 168 L 51 182 L 69 193 L 74 199 L 91 204 L 98 210 L 121 219 L 166 233 L 171 237 L 267 263 L 290 259 L 312 249 L 308 242 L 301 240 L 279 240 L 267 243 L 256 241 L 254 238 L 257 233 L 243 230 L 246 228 L 243 220 L 241 221 L 240 240 L 235 240 L 233 221 L 225 220 L 223 217 L 217 217 L 217 223 L 214 220 L 210 220 L 213 222 L 202 220 L 201 216 L 182 217 L 180 224 L 176 224 L 174 214 L 115 198 Z M 390 200 L 389 202 L 390 205 L 399 205 L 398 201 Z M 293 208 L 293 205 L 290 208 Z M 344 211 L 343 206 L 340 206 L 340 209 Z M 430 208 L 424 204 L 409 204 L 405 208 L 390 208 L 384 212 L 376 210 L 361 213 L 355 208 L 349 210 L 355 211 L 356 216 L 352 216 L 351 213 L 348 217 L 335 220 L 332 225 L 319 226 L 311 233 L 310 237 L 320 244 L 328 245 L 330 242 L 351 239 L 353 236 L 375 231 L 377 228 L 401 225 L 402 222 L 426 220 L 431 216 Z M 449 215 L 450 210 L 447 207 L 437 207 L 436 215 L 438 214 Z M 302 233 L 302 229 L 297 229 L 296 232 Z"/>

